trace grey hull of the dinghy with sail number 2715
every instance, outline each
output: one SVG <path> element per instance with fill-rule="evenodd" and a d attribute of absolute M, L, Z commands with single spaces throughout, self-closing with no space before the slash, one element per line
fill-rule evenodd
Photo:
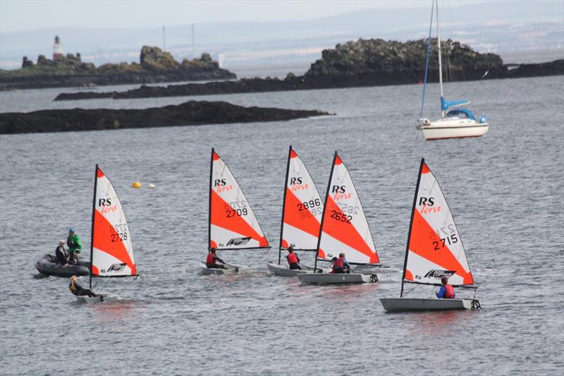
<path fill-rule="evenodd" d="M 474 299 L 381 298 L 380 302 L 389 312 L 480 308 L 479 302 Z"/>

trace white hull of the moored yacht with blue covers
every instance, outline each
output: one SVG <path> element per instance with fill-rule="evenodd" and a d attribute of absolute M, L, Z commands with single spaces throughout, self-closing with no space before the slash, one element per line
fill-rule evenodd
<path fill-rule="evenodd" d="M 447 138 L 481 137 L 489 129 L 488 123 L 478 123 L 472 119 L 439 119 L 419 121 L 418 129 L 425 140 L 444 140 Z"/>

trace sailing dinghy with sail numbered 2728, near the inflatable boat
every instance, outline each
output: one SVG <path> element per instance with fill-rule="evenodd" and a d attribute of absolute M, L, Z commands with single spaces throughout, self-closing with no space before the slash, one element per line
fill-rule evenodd
<path fill-rule="evenodd" d="M 133 259 L 133 243 L 125 212 L 114 186 L 96 165 L 94 174 L 94 200 L 92 202 L 92 236 L 90 241 L 90 280 L 92 277 L 137 276 Z M 115 293 L 94 291 L 104 296 L 104 301 L 118 299 Z M 100 298 L 77 296 L 78 301 L 98 302 Z"/>

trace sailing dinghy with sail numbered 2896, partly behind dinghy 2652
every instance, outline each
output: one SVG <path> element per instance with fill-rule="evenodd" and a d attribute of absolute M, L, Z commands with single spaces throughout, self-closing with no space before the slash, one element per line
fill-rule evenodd
<path fill-rule="evenodd" d="M 286 265 L 281 265 L 282 251 L 288 250 L 290 245 L 294 250 L 316 251 L 321 215 L 323 215 L 321 197 L 305 164 L 290 145 L 282 205 L 278 264 L 269 262 L 267 264 L 269 272 L 280 277 L 296 277 L 298 274 L 313 272 L 314 268 L 301 262 L 301 270 L 289 269 Z"/>

